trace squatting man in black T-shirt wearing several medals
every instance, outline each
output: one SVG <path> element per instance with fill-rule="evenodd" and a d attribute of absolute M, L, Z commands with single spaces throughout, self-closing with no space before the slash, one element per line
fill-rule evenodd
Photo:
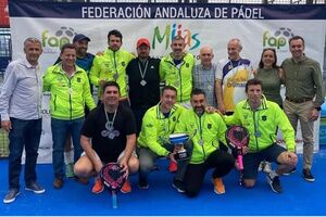
<path fill-rule="evenodd" d="M 90 112 L 82 129 L 80 143 L 84 154 L 76 162 L 74 173 L 87 178 L 100 173 L 104 164 L 117 162 L 126 176 L 138 171 L 139 163 L 135 154 L 136 122 L 131 110 L 118 103 L 120 87 L 114 81 L 103 85 L 101 101 Z M 93 193 L 100 193 L 104 186 L 97 177 Z M 129 181 L 122 187 L 123 193 L 131 191 Z"/>

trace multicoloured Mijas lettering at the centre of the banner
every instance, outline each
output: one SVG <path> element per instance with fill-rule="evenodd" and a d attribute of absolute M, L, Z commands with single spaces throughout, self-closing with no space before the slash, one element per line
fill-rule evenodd
<path fill-rule="evenodd" d="M 165 28 L 160 29 L 159 26 L 154 28 L 154 35 L 152 38 L 152 48 L 155 49 L 158 43 L 165 43 L 165 50 L 170 48 L 171 41 L 175 36 L 181 36 L 185 38 L 186 46 L 189 50 L 193 50 L 199 47 L 200 40 L 199 34 L 192 33 L 188 28 L 183 28 L 181 24 L 167 24 Z"/>

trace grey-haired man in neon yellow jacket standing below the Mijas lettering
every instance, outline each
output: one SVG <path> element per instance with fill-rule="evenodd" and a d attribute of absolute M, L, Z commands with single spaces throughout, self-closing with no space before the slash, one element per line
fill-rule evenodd
<path fill-rule="evenodd" d="M 195 58 L 191 53 L 186 53 L 185 48 L 185 39 L 181 36 L 174 37 L 171 43 L 172 53 L 161 60 L 160 78 L 165 85 L 177 89 L 177 102 L 189 108 Z"/>

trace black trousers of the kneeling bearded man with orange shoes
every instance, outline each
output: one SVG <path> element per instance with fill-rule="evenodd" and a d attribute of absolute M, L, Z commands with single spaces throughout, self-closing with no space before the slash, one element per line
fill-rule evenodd
<path fill-rule="evenodd" d="M 227 175 L 235 165 L 235 158 L 223 150 L 216 150 L 211 153 L 202 164 L 188 164 L 185 187 L 188 196 L 196 196 L 200 191 L 205 174 L 209 169 L 214 168 L 212 178 L 221 178 Z"/>

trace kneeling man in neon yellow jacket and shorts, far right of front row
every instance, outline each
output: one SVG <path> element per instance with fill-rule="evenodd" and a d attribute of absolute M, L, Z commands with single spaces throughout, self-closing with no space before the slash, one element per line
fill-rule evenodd
<path fill-rule="evenodd" d="M 290 171 L 298 162 L 294 154 L 294 130 L 278 104 L 267 101 L 262 94 L 262 85 L 250 79 L 246 85 L 247 100 L 240 101 L 231 116 L 225 116 L 227 125 L 241 125 L 250 133 L 248 148 L 243 149 L 243 184 L 255 184 L 258 168 L 262 161 L 275 162 L 279 166 L 267 174 L 272 190 L 280 193 L 283 188 L 278 176 Z M 277 127 L 283 133 L 287 149 L 276 143 Z"/>

